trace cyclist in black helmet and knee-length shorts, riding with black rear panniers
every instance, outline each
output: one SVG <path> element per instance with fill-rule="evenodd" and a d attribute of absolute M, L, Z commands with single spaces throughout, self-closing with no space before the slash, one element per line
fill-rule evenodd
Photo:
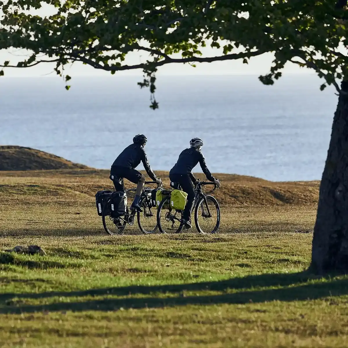
<path fill-rule="evenodd" d="M 139 198 L 145 185 L 145 176 L 134 168 L 142 162 L 145 171 L 148 173 L 150 178 L 158 185 L 162 184 L 161 180 L 157 179 L 155 173 L 153 173 L 148 157 L 144 151 L 144 146 L 147 141 L 147 137 L 144 134 L 136 135 L 133 138 L 133 144 L 126 147 L 120 153 L 120 155 L 114 160 L 110 170 L 110 179 L 113 181 L 116 191 L 124 191 L 124 187 L 121 183 L 122 178 L 126 178 L 134 184 L 137 184 L 135 198 L 131 208 L 140 212 L 142 209 L 139 206 Z"/>

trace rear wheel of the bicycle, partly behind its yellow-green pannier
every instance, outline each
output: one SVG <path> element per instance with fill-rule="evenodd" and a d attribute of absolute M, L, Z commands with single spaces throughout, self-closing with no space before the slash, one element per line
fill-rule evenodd
<path fill-rule="evenodd" d="M 176 211 L 169 206 L 169 198 L 164 198 L 157 209 L 157 225 L 161 233 L 179 233 L 183 229 L 181 223 L 182 211 Z"/>

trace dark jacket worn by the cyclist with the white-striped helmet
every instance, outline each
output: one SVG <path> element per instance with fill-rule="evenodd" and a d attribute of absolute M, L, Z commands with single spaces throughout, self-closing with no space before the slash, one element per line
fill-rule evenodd
<path fill-rule="evenodd" d="M 188 174 L 192 180 L 192 182 L 196 181 L 195 176 L 192 174 L 192 169 L 196 167 L 196 165 L 200 164 L 200 167 L 202 168 L 203 173 L 207 177 L 208 180 L 214 181 L 215 178 L 209 172 L 209 169 L 207 168 L 207 165 L 205 163 L 205 158 L 203 154 L 194 148 L 185 149 L 182 151 L 179 155 L 179 159 L 177 160 L 174 167 L 169 172 L 169 176 L 171 174 Z"/>

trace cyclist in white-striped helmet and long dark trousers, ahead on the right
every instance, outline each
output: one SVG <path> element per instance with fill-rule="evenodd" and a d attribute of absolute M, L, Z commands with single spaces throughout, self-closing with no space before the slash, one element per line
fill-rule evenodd
<path fill-rule="evenodd" d="M 169 179 L 171 182 L 179 183 L 182 190 L 188 194 L 187 203 L 183 213 L 183 223 L 187 228 L 192 228 L 190 219 L 193 202 L 195 201 L 193 184 L 196 185 L 198 183 L 197 179 L 192 174 L 192 169 L 198 164 L 198 162 L 207 179 L 214 182 L 217 187 L 220 187 L 219 180 L 215 179 L 214 176 L 209 172 L 209 169 L 205 163 L 205 158 L 200 152 L 200 148 L 203 146 L 203 140 L 193 138 L 190 140 L 190 145 L 191 147 L 189 149 L 185 149 L 180 153 L 179 159 L 169 172 Z"/>

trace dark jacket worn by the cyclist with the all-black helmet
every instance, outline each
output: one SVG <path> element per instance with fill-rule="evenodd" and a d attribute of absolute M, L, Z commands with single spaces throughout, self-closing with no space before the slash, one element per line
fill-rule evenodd
<path fill-rule="evenodd" d="M 128 147 L 126 147 L 114 160 L 111 168 L 113 166 L 120 166 L 135 169 L 137 166 L 139 166 L 140 162 L 143 163 L 145 171 L 148 173 L 150 178 L 153 181 L 157 180 L 155 173 L 153 173 L 150 167 L 146 152 L 140 144 L 130 144 Z"/>

